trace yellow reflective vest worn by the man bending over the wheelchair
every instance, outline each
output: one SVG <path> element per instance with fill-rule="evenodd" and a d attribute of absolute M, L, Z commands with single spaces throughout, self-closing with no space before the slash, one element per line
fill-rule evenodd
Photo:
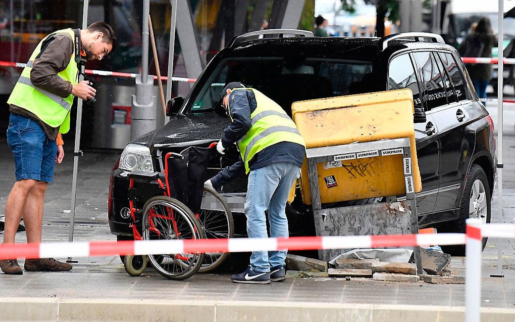
<path fill-rule="evenodd" d="M 250 115 L 250 129 L 243 138 L 238 140 L 246 173 L 250 172 L 249 161 L 256 153 L 268 146 L 280 142 L 292 142 L 305 146 L 297 126 L 277 103 L 255 89 L 238 88 L 233 91 L 236 90 L 252 91 L 257 103 Z M 230 110 L 230 106 L 228 108 Z"/>

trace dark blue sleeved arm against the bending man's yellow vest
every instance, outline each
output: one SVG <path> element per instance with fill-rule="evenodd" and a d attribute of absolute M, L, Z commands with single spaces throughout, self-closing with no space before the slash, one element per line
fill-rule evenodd
<path fill-rule="evenodd" d="M 229 113 L 232 123 L 229 125 L 222 137 L 222 145 L 228 148 L 248 132 L 250 124 L 250 105 L 247 91 L 236 90 L 229 95 Z"/>

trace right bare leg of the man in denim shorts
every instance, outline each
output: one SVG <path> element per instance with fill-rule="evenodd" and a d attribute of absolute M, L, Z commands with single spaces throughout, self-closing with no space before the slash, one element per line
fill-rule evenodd
<path fill-rule="evenodd" d="M 47 182 L 37 181 L 30 189 L 23 211 L 23 222 L 27 231 L 27 243 L 41 243 L 41 227 L 43 224 L 43 205 Z"/>

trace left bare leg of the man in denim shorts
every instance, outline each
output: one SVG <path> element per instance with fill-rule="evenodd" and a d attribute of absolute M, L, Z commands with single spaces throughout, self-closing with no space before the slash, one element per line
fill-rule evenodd
<path fill-rule="evenodd" d="M 22 219 L 29 192 L 35 187 L 37 182 L 39 181 L 22 179 L 14 183 L 5 205 L 4 244 L 14 243 L 14 236 Z M 28 235 L 27 232 L 27 238 Z"/>

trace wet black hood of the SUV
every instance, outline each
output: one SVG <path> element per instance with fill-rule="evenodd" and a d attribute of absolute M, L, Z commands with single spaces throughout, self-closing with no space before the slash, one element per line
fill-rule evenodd
<path fill-rule="evenodd" d="M 230 123 L 229 117 L 214 112 L 177 115 L 164 126 L 131 143 L 147 146 L 153 151 L 163 146 L 187 146 L 195 142 L 217 141 Z"/>

